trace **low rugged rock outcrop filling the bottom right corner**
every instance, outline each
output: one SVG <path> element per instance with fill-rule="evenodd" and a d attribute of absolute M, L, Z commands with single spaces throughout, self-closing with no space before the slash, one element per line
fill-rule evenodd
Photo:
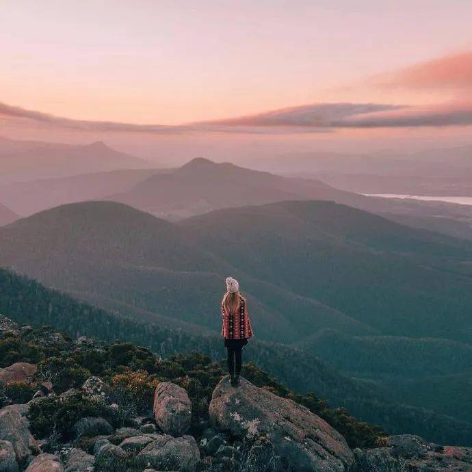
<path fill-rule="evenodd" d="M 472 447 L 440 446 L 412 434 L 390 436 L 384 447 L 354 453 L 353 472 L 472 471 Z"/>

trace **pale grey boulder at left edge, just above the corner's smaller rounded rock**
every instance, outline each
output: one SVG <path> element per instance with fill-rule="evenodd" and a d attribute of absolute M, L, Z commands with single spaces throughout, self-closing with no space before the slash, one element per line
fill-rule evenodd
<path fill-rule="evenodd" d="M 38 450 L 38 443 L 21 417 L 21 408 L 5 406 L 0 410 L 0 441 L 12 443 L 18 464 L 27 464 L 31 451 Z"/>

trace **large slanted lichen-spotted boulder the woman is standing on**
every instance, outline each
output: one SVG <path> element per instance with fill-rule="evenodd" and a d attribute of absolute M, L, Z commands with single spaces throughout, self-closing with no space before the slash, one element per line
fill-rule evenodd
<path fill-rule="evenodd" d="M 229 376 L 222 378 L 213 391 L 209 413 L 222 432 L 255 443 L 267 440 L 274 471 L 343 472 L 352 463 L 348 443 L 326 421 L 244 378 L 237 389 Z"/>

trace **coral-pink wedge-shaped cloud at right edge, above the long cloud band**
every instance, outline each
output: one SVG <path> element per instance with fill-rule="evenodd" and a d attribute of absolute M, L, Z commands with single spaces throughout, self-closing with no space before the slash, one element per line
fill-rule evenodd
<path fill-rule="evenodd" d="M 373 83 L 411 89 L 472 88 L 472 51 L 420 62 L 396 73 L 376 77 Z"/>

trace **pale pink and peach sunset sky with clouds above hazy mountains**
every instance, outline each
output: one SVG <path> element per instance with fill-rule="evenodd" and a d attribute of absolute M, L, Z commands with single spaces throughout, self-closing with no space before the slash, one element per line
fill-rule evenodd
<path fill-rule="evenodd" d="M 470 0 L 0 0 L 0 135 L 467 135 L 470 18 Z"/>

